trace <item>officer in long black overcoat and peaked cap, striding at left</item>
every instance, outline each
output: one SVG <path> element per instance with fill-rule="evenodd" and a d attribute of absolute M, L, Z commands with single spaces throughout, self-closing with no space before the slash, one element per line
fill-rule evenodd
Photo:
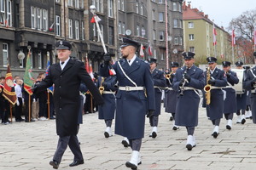
<path fill-rule="evenodd" d="M 85 71 L 84 63 L 70 59 L 71 44 L 67 41 L 59 41 L 56 42 L 55 47 L 60 62 L 50 65 L 48 76 L 34 88 L 34 92 L 44 90 L 55 84 L 55 122 L 59 141 L 55 156 L 52 161 L 49 161 L 49 164 L 57 169 L 67 145 L 74 155 L 73 163 L 69 166 L 73 167 L 84 163 L 77 138 L 80 82 L 84 82 L 86 87 L 89 88 L 98 105 L 103 104 L 103 99 L 99 90 L 91 81 L 91 77 Z"/>

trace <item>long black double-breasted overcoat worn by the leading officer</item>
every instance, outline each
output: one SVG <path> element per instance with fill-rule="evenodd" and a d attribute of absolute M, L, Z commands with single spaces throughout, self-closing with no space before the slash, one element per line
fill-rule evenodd
<path fill-rule="evenodd" d="M 84 63 L 80 61 L 69 59 L 62 71 L 60 63 L 51 65 L 48 76 L 37 85 L 37 90 L 40 90 L 55 84 L 55 121 L 56 132 L 59 136 L 78 133 L 79 86 L 81 81 L 90 90 L 96 104 L 101 105 L 103 103 L 102 95 L 85 71 Z"/>

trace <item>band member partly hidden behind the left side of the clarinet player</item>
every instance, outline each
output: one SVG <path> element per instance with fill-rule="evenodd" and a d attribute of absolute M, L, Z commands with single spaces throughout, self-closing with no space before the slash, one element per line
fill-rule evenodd
<path fill-rule="evenodd" d="M 172 88 L 172 82 L 173 78 L 176 74 L 176 71 L 178 69 L 178 63 L 177 62 L 171 62 L 171 69 L 172 72 L 166 74 L 166 112 L 172 114 L 172 120 L 173 121 L 173 127 L 172 130 L 177 130 L 179 127 L 175 125 L 175 110 L 176 110 L 176 104 L 177 104 L 177 91 L 173 90 Z"/>

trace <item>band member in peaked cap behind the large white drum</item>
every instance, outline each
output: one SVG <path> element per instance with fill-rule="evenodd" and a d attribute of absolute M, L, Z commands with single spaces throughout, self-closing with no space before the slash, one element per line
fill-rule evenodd
<path fill-rule="evenodd" d="M 239 88 L 236 88 L 236 104 L 237 104 L 237 121 L 236 123 L 241 123 L 244 124 L 246 122 L 245 119 L 245 110 L 246 110 L 246 105 L 247 105 L 247 91 L 242 88 L 242 83 L 244 82 L 244 79 L 246 77 L 246 71 L 243 70 L 243 63 L 241 61 L 236 61 L 236 74 L 241 74 L 241 78 L 239 79 Z M 239 73 L 239 71 L 241 73 Z M 235 86 L 236 87 L 236 86 Z M 238 86 L 237 86 L 238 87 Z"/>

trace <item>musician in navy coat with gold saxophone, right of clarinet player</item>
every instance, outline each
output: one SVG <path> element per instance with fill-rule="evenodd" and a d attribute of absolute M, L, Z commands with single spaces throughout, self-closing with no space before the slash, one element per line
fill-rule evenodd
<path fill-rule="evenodd" d="M 218 69 L 217 59 L 215 57 L 208 57 L 208 69 L 205 71 L 205 77 L 207 80 L 207 74 L 210 74 L 210 80 L 206 83 L 212 86 L 211 93 L 211 103 L 207 105 L 207 116 L 210 118 L 213 124 L 213 138 L 218 137 L 218 128 L 220 119 L 223 117 L 224 111 L 224 92 L 222 88 L 227 84 L 227 78 L 225 77 L 224 71 Z M 209 72 L 208 72 L 209 71 Z"/>

